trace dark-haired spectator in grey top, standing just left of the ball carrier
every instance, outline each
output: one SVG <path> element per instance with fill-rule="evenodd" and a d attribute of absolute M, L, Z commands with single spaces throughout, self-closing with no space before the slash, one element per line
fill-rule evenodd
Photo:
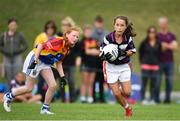
<path fill-rule="evenodd" d="M 92 38 L 98 41 L 98 46 L 103 43 L 104 36 L 106 36 L 108 32 L 104 29 L 104 19 L 102 16 L 97 15 L 94 20 L 94 28 L 93 28 L 93 34 Z M 94 102 L 105 102 L 104 99 L 104 75 L 102 71 L 102 61 L 98 59 L 96 61 L 97 64 L 97 73 L 96 73 L 96 78 L 95 78 L 95 83 L 94 83 L 94 88 L 93 88 L 93 97 L 94 97 Z M 99 89 L 99 90 L 98 90 Z M 96 94 L 97 90 L 99 92 L 99 96 Z M 99 99 L 98 99 L 99 98 Z"/>

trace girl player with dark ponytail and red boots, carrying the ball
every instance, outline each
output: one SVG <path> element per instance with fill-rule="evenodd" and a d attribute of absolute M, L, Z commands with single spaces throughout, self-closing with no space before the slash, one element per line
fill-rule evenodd
<path fill-rule="evenodd" d="M 132 108 L 126 101 L 126 97 L 131 94 L 131 69 L 129 67 L 130 56 L 135 52 L 135 46 L 132 40 L 136 34 L 133 33 L 132 24 L 125 16 L 117 16 L 114 19 L 114 31 L 104 37 L 102 48 L 107 44 L 118 45 L 118 58 L 110 61 L 110 53 L 100 54 L 104 59 L 103 72 L 104 77 L 117 102 L 125 109 L 125 116 L 132 116 Z"/>

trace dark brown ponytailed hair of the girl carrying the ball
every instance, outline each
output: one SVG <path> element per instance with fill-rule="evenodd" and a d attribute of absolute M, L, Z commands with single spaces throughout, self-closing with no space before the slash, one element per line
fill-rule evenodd
<path fill-rule="evenodd" d="M 121 20 L 124 20 L 125 23 L 126 23 L 126 30 L 125 30 L 125 34 L 128 35 L 128 36 L 132 36 L 132 37 L 135 37 L 136 36 L 136 33 L 134 32 L 134 28 L 133 28 L 133 24 L 131 22 L 129 22 L 128 18 L 126 16 L 117 16 L 114 18 L 114 23 L 116 23 L 116 20 L 117 19 L 121 19 Z"/>

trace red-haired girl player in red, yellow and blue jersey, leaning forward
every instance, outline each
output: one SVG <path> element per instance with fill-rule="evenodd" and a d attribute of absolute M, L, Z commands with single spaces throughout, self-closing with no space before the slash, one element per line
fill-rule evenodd
<path fill-rule="evenodd" d="M 4 109 L 7 112 L 11 112 L 11 102 L 14 97 L 29 93 L 32 91 L 35 78 L 41 72 L 43 78 L 48 84 L 48 90 L 46 92 L 45 101 L 42 105 L 41 114 L 54 114 L 50 112 L 50 103 L 56 89 L 56 81 L 51 70 L 51 66 L 56 64 L 56 69 L 59 72 L 60 77 L 65 84 L 64 71 L 62 67 L 62 60 L 69 52 L 80 36 L 80 29 L 73 27 L 64 33 L 63 37 L 56 37 L 46 41 L 45 43 L 39 43 L 37 48 L 33 49 L 26 57 L 23 66 L 23 72 L 26 74 L 25 86 L 14 89 L 12 92 L 8 92 L 4 95 Z"/>

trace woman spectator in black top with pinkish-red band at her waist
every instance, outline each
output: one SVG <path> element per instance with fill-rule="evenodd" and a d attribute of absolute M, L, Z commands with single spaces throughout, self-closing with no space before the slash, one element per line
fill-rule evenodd
<path fill-rule="evenodd" d="M 155 84 L 158 81 L 160 64 L 161 43 L 157 38 L 157 30 L 150 26 L 147 30 L 147 37 L 142 41 L 139 48 L 139 60 L 141 64 L 142 104 L 155 104 Z M 150 80 L 150 99 L 146 100 L 146 86 Z"/>

